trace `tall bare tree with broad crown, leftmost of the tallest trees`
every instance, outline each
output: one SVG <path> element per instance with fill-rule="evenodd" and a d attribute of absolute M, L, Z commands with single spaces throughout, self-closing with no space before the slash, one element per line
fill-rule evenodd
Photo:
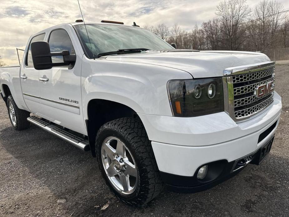
<path fill-rule="evenodd" d="M 223 0 L 219 3 L 216 15 L 221 21 L 222 44 L 229 50 L 240 48 L 246 33 L 245 22 L 250 14 L 246 0 Z"/>

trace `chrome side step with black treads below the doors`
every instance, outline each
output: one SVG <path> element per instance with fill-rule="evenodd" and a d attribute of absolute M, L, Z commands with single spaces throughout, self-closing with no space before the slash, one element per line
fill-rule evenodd
<path fill-rule="evenodd" d="M 27 118 L 27 121 L 29 121 L 32 124 L 35 124 L 36 126 L 46 130 L 47 132 L 56 135 L 57 137 L 65 140 L 66 142 L 76 146 L 77 148 L 83 150 L 83 151 L 89 151 L 89 143 L 87 139 L 83 139 L 80 136 L 77 136 L 73 134 L 72 132 L 68 132 L 62 127 L 59 127 L 58 125 L 49 122 L 45 119 L 37 118 L 36 116 L 31 116 Z"/>

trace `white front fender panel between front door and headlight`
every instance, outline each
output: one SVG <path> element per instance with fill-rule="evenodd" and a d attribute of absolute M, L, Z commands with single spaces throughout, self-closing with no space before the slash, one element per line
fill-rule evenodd
<path fill-rule="evenodd" d="M 143 63 L 83 60 L 82 105 L 87 119 L 87 105 L 92 99 L 124 104 L 135 112 L 172 116 L 167 94 L 171 79 L 188 79 L 184 71 Z"/>

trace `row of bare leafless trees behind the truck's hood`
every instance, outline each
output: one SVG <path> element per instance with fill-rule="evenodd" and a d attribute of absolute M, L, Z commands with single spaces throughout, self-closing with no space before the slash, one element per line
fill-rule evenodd
<path fill-rule="evenodd" d="M 261 0 L 255 8 L 247 0 L 223 0 L 216 16 L 201 27 L 183 30 L 175 23 L 145 26 L 177 48 L 197 50 L 260 51 L 289 47 L 289 10 L 276 0 Z"/>

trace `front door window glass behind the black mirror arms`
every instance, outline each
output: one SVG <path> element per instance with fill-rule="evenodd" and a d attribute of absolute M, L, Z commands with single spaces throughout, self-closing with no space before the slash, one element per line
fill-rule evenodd
<path fill-rule="evenodd" d="M 68 33 L 64 29 L 57 29 L 51 32 L 49 37 L 50 52 L 61 52 L 68 50 L 69 54 L 75 54 L 73 45 Z M 52 63 L 62 63 L 62 56 L 52 56 Z"/>

